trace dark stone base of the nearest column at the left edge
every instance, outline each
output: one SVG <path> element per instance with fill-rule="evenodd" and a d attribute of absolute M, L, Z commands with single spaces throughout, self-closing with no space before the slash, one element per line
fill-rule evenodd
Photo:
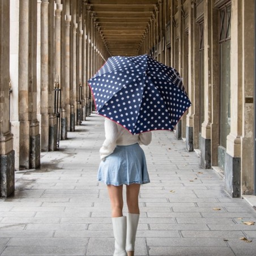
<path fill-rule="evenodd" d="M 14 193 L 14 150 L 7 155 L 0 155 L 0 197 Z"/>

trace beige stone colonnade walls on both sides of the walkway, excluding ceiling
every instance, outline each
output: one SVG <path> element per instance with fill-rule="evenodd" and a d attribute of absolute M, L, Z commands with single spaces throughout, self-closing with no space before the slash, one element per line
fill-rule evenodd
<path fill-rule="evenodd" d="M 112 55 L 93 2 L 0 2 L 2 197 L 14 191 L 15 169 L 39 168 L 40 152 L 56 150 L 93 110 L 87 80 Z M 229 195 L 254 194 L 255 1 L 153 6 L 136 49 L 183 78 L 193 105 L 176 138 L 224 177 Z"/>

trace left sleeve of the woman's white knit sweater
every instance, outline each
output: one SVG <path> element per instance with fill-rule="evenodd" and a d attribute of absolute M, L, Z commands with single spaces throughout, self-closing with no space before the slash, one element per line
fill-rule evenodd
<path fill-rule="evenodd" d="M 105 118 L 105 137 L 103 146 L 100 148 L 100 158 L 105 159 L 106 156 L 113 153 L 117 146 L 117 125 L 115 122 Z"/>

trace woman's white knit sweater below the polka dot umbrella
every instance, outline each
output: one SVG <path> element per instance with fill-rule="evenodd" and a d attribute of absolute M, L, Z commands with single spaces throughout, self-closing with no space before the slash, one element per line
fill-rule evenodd
<path fill-rule="evenodd" d="M 103 146 L 100 148 L 100 158 L 105 159 L 106 156 L 113 153 L 116 146 L 128 146 L 135 143 L 148 145 L 151 142 L 151 131 L 141 134 L 131 134 L 121 125 L 105 118 L 105 136 Z"/>

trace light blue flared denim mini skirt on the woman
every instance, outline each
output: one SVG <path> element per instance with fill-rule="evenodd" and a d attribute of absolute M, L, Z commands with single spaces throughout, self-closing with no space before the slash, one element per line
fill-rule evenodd
<path fill-rule="evenodd" d="M 145 154 L 139 144 L 117 146 L 100 162 L 97 180 L 114 186 L 149 183 Z"/>

